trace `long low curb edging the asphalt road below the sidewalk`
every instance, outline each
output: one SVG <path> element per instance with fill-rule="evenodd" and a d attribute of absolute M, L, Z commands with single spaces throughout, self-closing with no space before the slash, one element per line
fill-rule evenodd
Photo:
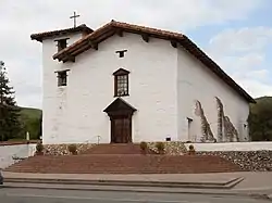
<path fill-rule="evenodd" d="M 238 192 L 221 192 L 221 191 L 171 191 L 171 190 L 148 190 L 148 189 L 107 189 L 107 188 L 61 188 L 45 186 L 0 186 L 0 189 L 42 189 L 42 190 L 73 190 L 73 191 L 106 191 L 106 192 L 143 192 L 143 193 L 180 193 L 180 194 L 211 194 L 211 195 L 231 195 L 244 196 L 262 200 L 272 200 L 272 195 L 263 193 L 238 193 Z"/>

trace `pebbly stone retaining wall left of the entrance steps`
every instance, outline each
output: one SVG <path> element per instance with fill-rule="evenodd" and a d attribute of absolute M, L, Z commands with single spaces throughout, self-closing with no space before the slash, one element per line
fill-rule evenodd
<path fill-rule="evenodd" d="M 44 144 L 44 152 L 46 155 L 70 155 L 69 152 L 70 144 Z M 77 149 L 77 154 L 92 148 L 94 143 L 77 143 L 75 144 Z"/>

